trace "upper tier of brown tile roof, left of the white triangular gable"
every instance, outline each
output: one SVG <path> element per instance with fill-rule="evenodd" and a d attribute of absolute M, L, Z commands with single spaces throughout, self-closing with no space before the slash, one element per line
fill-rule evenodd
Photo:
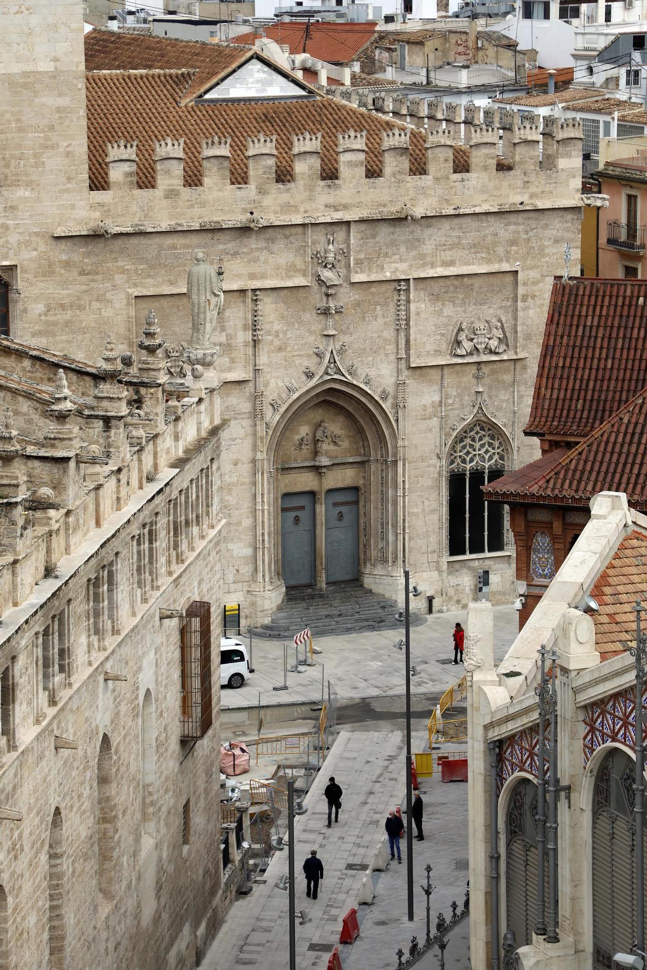
<path fill-rule="evenodd" d="M 183 93 L 185 101 L 197 97 L 254 53 L 240 45 L 181 41 L 120 30 L 85 34 L 86 71 L 191 70 L 191 81 Z"/>

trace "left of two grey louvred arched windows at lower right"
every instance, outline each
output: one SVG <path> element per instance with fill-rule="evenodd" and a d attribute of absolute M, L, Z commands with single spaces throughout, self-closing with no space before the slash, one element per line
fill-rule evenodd
<path fill-rule="evenodd" d="M 518 947 L 532 942 L 537 919 L 537 786 L 528 778 L 514 787 L 505 820 L 505 928 Z M 548 899 L 548 866 L 545 867 Z"/>

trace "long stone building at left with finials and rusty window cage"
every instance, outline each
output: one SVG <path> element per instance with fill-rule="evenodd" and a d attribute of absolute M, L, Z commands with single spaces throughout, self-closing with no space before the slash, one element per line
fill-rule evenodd
<path fill-rule="evenodd" d="M 165 404 L 147 331 L 0 349 L 5 968 L 190 970 L 222 919 L 218 392 Z"/>

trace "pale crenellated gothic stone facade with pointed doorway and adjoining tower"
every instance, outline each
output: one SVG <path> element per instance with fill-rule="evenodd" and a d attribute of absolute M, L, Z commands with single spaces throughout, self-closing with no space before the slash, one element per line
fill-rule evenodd
<path fill-rule="evenodd" d="M 23 43 L 29 49 L 30 38 Z M 314 495 L 313 570 L 323 585 L 324 497 L 342 488 L 358 489 L 366 585 L 398 596 L 409 566 L 447 609 L 475 594 L 486 567 L 493 600 L 508 601 L 506 523 L 494 523 L 494 552 L 482 554 L 482 513 L 465 540 L 471 506 L 464 482 L 449 495 L 450 473 L 500 473 L 533 457 L 521 429 L 545 307 L 564 243 L 579 237 L 577 124 L 544 132 L 541 168 L 538 127 L 526 119 L 506 132 L 510 171 L 496 171 L 492 129 L 466 125 L 469 171 L 456 175 L 455 112 L 445 131 L 428 132 L 427 175 L 409 176 L 402 132 L 385 138 L 382 178 L 364 178 L 365 146 L 351 132 L 339 135 L 336 181 L 321 180 L 319 141 L 306 134 L 294 142 L 295 180 L 283 184 L 274 180 L 273 140 L 262 137 L 248 148 L 248 184 L 229 183 L 228 146 L 219 145 L 220 157 L 205 150 L 195 188 L 183 187 L 182 146 L 159 132 L 156 188 L 134 188 L 134 151 L 116 145 L 110 190 L 88 192 L 80 33 L 68 29 L 65 43 L 55 65 L 34 58 L 37 68 L 20 73 L 28 58 L 17 56 L 2 81 L 8 123 L 19 119 L 22 132 L 0 148 L 21 199 L 19 212 L 0 214 L 3 272 L 20 290 L 13 335 L 94 360 L 107 329 L 132 350 L 153 307 L 168 342 L 186 343 L 190 254 L 205 249 L 224 268 L 213 334 L 229 419 L 223 595 L 241 602 L 244 622 L 266 619 L 284 594 L 282 496 Z M 35 113 L 30 92 L 46 75 Z M 55 130 L 45 124 L 46 138 L 41 110 L 59 119 Z M 325 259 L 331 236 L 326 283 L 316 254 Z M 318 461 L 322 419 L 328 437 Z M 476 421 L 477 437 L 494 448 L 470 440 Z M 451 501 L 463 530 L 454 555 Z"/>

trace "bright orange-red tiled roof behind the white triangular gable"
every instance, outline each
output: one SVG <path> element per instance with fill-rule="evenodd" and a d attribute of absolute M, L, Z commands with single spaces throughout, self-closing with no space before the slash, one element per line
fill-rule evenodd
<path fill-rule="evenodd" d="M 264 27 L 265 36 L 277 44 L 289 44 L 290 54 L 302 53 L 306 36 L 306 24 L 300 21 L 275 23 Z M 356 60 L 361 50 L 375 33 L 375 23 L 311 23 L 305 52 L 319 57 L 329 64 L 345 64 Z M 239 34 L 232 44 L 254 45 L 255 33 Z"/>

